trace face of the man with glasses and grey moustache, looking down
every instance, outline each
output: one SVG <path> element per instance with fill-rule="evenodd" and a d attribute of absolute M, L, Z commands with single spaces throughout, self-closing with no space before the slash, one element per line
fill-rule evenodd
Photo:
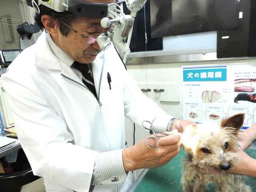
<path fill-rule="evenodd" d="M 96 3 L 110 3 L 115 2 L 114 0 L 85 0 L 87 2 Z M 100 25 L 101 19 L 91 19 L 91 18 L 78 18 L 72 22 L 70 25 L 76 31 L 80 32 L 84 36 L 89 33 L 104 32 L 104 28 Z M 97 35 L 92 35 L 96 38 Z M 91 63 L 96 58 L 97 54 L 100 52 L 100 47 L 95 41 L 91 43 L 91 38 L 82 38 L 80 35 L 76 34 L 72 30 L 65 37 L 62 34 L 58 34 L 58 45 L 64 52 L 66 52 L 73 60 L 80 63 Z"/>

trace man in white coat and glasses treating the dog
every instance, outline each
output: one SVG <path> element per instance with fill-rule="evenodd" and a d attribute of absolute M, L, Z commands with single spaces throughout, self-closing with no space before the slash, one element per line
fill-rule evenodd
<path fill-rule="evenodd" d="M 125 148 L 124 116 L 137 125 L 155 119 L 160 132 L 192 122 L 144 96 L 114 46 L 100 52 L 101 18 L 39 8 L 36 23 L 47 32 L 2 75 L 33 173 L 44 178 L 47 192 L 126 191 L 130 171 L 162 166 L 178 154 L 180 133 L 160 138 L 157 148 L 146 139 Z"/>

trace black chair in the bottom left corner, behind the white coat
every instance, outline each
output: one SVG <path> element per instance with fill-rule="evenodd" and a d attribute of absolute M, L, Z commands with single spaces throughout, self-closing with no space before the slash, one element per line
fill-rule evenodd
<path fill-rule="evenodd" d="M 33 182 L 40 177 L 34 176 L 31 168 L 9 174 L 0 174 L 0 191 L 1 192 L 20 192 L 21 187 Z"/>

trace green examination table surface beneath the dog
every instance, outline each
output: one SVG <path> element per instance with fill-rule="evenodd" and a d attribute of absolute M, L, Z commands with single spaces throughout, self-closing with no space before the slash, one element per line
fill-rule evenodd
<path fill-rule="evenodd" d="M 256 150 L 248 149 L 246 153 L 256 158 Z M 180 179 L 184 155 L 185 151 L 181 149 L 180 153 L 168 164 L 148 170 L 134 192 L 182 192 Z M 252 191 L 256 192 L 256 178 L 246 176 L 245 182 L 252 187 Z M 206 192 L 214 192 L 214 189 L 213 185 L 208 186 Z"/>

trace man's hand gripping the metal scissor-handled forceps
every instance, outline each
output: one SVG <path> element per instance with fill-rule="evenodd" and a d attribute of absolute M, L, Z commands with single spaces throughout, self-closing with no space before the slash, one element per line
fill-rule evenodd
<path fill-rule="evenodd" d="M 180 150 L 180 136 L 177 131 L 169 136 L 158 138 L 159 146 L 152 148 L 148 146 L 146 139 L 138 142 L 136 145 L 123 150 L 123 163 L 126 171 L 132 171 L 141 168 L 155 168 L 168 163 Z M 167 132 L 168 133 L 168 132 Z M 153 137 L 153 135 L 152 135 Z M 154 140 L 150 140 L 155 145 Z"/>

